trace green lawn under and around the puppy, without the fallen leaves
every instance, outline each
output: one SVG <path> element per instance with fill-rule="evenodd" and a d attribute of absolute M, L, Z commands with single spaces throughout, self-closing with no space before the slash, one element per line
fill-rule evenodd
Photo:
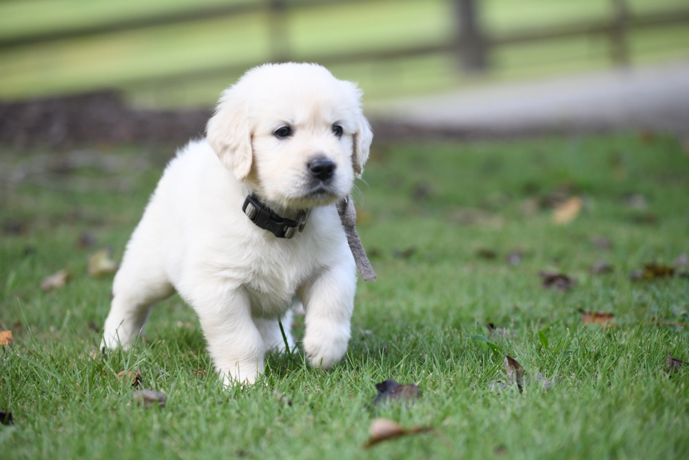
<path fill-rule="evenodd" d="M 668 353 L 689 359 L 689 334 L 657 324 L 688 322 L 689 280 L 629 276 L 689 252 L 689 157 L 676 139 L 377 146 L 357 201 L 378 280 L 360 283 L 347 357 L 319 372 L 301 352 L 271 356 L 244 391 L 222 388 L 198 321 L 176 297 L 154 310 L 134 350 L 95 353 L 112 279 L 88 277 L 85 259 L 105 246 L 121 255 L 165 154 L 106 149 L 67 171 L 65 158 L 83 155 L 2 157 L 2 174 L 32 171 L 3 177 L 0 201 L 0 326 L 14 332 L 0 348 L 0 409 L 14 417 L 0 426 L 0 450 L 12 459 L 689 454 L 689 369 L 665 370 Z M 555 225 L 548 203 L 575 195 L 584 208 Z M 77 244 L 83 232 L 94 248 Z M 521 263 L 507 263 L 515 251 Z M 613 272 L 591 274 L 599 259 Z M 41 279 L 61 268 L 70 282 L 42 292 Z M 577 283 L 544 289 L 541 270 Z M 582 311 L 597 310 L 615 326 L 585 326 Z M 523 392 L 491 389 L 506 382 L 505 354 L 526 370 Z M 116 373 L 133 369 L 167 407 L 132 403 Z M 418 384 L 422 397 L 371 408 L 375 383 L 389 378 Z M 374 417 L 433 432 L 364 450 Z"/>

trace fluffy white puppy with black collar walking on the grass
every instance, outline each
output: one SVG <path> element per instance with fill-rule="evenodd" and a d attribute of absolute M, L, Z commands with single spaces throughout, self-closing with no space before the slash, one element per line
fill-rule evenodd
<path fill-rule="evenodd" d="M 127 244 L 102 348 L 131 346 L 176 290 L 227 384 L 254 383 L 266 350 L 284 350 L 278 320 L 293 301 L 311 365 L 340 361 L 356 267 L 335 203 L 369 155 L 360 95 L 301 63 L 254 68 L 225 90 L 207 139 L 170 161 Z"/>

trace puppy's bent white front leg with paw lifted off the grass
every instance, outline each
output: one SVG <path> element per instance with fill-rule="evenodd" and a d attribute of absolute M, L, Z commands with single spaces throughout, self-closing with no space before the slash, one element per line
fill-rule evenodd
<path fill-rule="evenodd" d="M 330 368 L 347 351 L 356 291 L 356 268 L 351 262 L 330 268 L 302 290 L 304 350 L 313 367 Z"/>

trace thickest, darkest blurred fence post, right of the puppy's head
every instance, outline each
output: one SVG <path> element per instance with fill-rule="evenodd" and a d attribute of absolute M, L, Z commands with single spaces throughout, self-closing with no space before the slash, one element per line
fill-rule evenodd
<path fill-rule="evenodd" d="M 481 28 L 476 0 L 454 0 L 457 26 L 457 52 L 462 69 L 467 73 L 488 70 L 488 46 Z"/>

